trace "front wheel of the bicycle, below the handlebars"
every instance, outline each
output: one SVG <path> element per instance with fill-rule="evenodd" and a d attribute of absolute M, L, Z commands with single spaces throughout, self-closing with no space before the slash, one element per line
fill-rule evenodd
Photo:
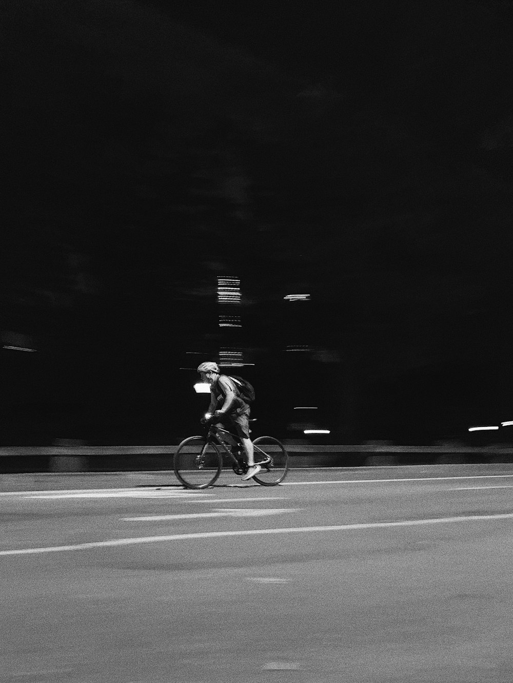
<path fill-rule="evenodd" d="M 203 436 L 189 436 L 176 448 L 174 473 L 186 488 L 212 486 L 222 469 L 222 456 Z"/>

